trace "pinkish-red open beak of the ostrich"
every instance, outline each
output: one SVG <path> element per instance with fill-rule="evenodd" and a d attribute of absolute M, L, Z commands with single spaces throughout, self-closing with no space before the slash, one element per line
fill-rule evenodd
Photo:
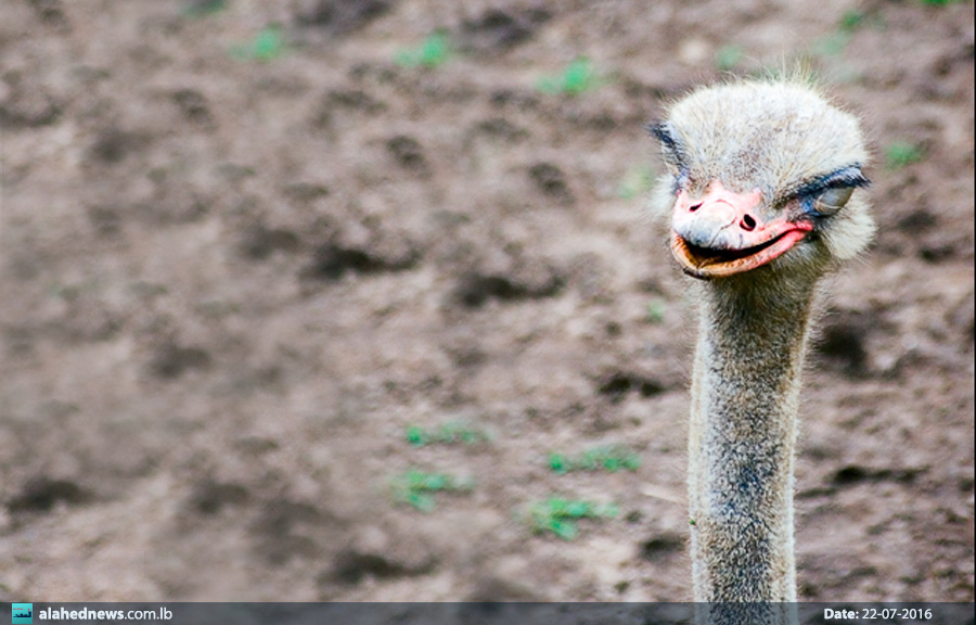
<path fill-rule="evenodd" d="M 695 278 L 711 279 L 742 273 L 766 265 L 799 242 L 813 225 L 765 221 L 762 193 L 727 190 L 714 180 L 704 196 L 681 190 L 671 216 L 671 254 L 681 269 Z"/>

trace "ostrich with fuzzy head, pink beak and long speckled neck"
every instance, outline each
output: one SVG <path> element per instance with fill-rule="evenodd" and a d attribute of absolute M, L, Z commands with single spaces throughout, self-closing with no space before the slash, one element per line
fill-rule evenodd
<path fill-rule="evenodd" d="M 874 233 L 864 140 L 802 78 L 701 88 L 648 130 L 667 166 L 653 209 L 698 279 L 688 487 L 699 621 L 791 623 L 800 372 L 821 278 Z"/>

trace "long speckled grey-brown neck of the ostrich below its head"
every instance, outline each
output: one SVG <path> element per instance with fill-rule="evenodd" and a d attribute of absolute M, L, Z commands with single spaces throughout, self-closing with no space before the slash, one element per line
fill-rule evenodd
<path fill-rule="evenodd" d="M 791 286 L 703 286 L 689 432 L 695 601 L 796 601 L 793 459 L 813 284 Z"/>

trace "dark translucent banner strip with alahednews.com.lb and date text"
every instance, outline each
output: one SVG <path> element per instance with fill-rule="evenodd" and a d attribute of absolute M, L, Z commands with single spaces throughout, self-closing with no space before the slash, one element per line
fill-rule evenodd
<path fill-rule="evenodd" d="M 696 621 L 699 618 L 699 621 Z M 709 620 L 710 618 L 710 620 Z M 795 621 L 793 620 L 795 618 Z M 976 625 L 973 603 L 5 603 L 0 625 Z"/>

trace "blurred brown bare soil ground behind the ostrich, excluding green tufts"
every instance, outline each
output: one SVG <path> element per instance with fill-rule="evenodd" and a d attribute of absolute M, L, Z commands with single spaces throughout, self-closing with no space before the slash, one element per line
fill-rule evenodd
<path fill-rule="evenodd" d="M 0 598 L 689 599 L 642 126 L 717 55 L 810 51 L 881 229 L 811 355 L 800 594 L 974 599 L 972 2 L 213 4 L 0 7 Z M 438 28 L 444 65 L 395 62 Z M 596 88 L 537 89 L 579 55 Z M 492 438 L 404 439 L 449 422 Z M 640 468 L 547 467 L 599 444 Z M 396 505 L 412 467 L 476 487 Z M 534 535 L 555 493 L 619 515 Z"/>

